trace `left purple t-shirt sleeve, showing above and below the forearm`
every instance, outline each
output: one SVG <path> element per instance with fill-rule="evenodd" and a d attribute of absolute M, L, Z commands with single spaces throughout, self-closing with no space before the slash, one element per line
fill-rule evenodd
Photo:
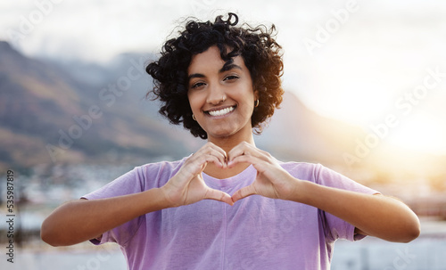
<path fill-rule="evenodd" d="M 118 177 L 111 183 L 104 185 L 95 192 L 88 193 L 87 195 L 83 196 L 82 199 L 98 200 L 143 191 L 145 191 L 144 175 L 141 168 L 134 168 L 125 175 Z M 96 245 L 104 242 L 117 242 L 120 245 L 124 245 L 136 233 L 136 230 L 138 226 L 141 225 L 143 218 L 145 218 L 145 216 L 136 217 L 123 225 L 103 233 L 101 237 L 90 241 Z"/>

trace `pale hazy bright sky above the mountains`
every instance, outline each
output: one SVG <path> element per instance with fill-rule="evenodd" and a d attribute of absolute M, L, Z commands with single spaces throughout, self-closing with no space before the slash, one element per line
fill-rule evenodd
<path fill-rule="evenodd" d="M 277 26 L 285 90 L 310 109 L 446 154 L 446 1 L 2 1 L 0 39 L 31 56 L 106 63 L 157 52 L 188 16 L 227 11 Z"/>

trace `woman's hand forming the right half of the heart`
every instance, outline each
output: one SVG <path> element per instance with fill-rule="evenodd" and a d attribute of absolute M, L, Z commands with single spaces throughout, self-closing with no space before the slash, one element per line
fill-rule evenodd
<path fill-rule="evenodd" d="M 258 194 L 272 199 L 291 200 L 296 194 L 299 180 L 282 168 L 267 151 L 261 151 L 250 143 L 240 143 L 228 153 L 227 167 L 247 162 L 257 170 L 254 182 L 232 195 L 232 200 Z"/>

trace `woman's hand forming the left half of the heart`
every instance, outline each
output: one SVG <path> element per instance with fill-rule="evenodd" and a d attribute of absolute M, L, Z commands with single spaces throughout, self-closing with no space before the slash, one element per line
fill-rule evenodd
<path fill-rule="evenodd" d="M 173 207 L 204 199 L 219 200 L 229 205 L 234 204 L 231 196 L 226 192 L 211 189 L 204 183 L 202 171 L 208 162 L 213 162 L 219 168 L 227 168 L 227 154 L 217 145 L 206 143 L 185 161 L 177 175 L 162 186 L 161 190 Z"/>

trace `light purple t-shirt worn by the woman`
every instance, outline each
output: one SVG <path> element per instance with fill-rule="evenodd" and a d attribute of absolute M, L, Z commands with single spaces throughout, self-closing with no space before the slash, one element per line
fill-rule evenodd
<path fill-rule="evenodd" d="M 161 187 L 184 160 L 137 167 L 88 200 Z M 281 163 L 292 176 L 354 192 L 376 193 L 320 164 Z M 252 184 L 252 166 L 227 179 L 203 174 L 211 188 L 233 194 Z M 95 244 L 117 242 L 128 268 L 139 269 L 329 269 L 336 239 L 359 240 L 354 226 L 314 207 L 252 195 L 234 206 L 202 200 L 145 214 L 103 233 Z"/>

